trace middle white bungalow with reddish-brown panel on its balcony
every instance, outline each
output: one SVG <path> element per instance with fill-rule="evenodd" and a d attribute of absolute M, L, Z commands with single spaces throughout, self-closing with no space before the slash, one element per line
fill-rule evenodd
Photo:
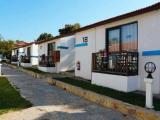
<path fill-rule="evenodd" d="M 44 72 L 59 73 L 74 70 L 75 36 L 73 34 L 57 36 L 53 40 L 39 41 L 38 69 Z"/>

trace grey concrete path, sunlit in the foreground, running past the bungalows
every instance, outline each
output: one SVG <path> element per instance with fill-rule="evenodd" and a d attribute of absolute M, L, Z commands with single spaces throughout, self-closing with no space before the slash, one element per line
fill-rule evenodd
<path fill-rule="evenodd" d="M 2 115 L 0 120 L 135 120 L 131 116 L 50 86 L 45 80 L 33 78 L 16 69 L 3 65 L 2 71 L 34 106 Z"/>

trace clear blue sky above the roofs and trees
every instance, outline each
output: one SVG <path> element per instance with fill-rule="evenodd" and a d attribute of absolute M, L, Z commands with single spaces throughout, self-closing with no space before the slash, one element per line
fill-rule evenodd
<path fill-rule="evenodd" d="M 160 0 L 0 0 L 0 34 L 33 41 L 40 33 L 58 35 L 65 24 L 82 26 L 130 12 Z"/>

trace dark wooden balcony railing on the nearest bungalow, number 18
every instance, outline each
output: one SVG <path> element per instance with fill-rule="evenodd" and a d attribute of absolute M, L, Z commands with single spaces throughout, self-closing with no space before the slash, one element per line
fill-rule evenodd
<path fill-rule="evenodd" d="M 92 71 L 124 76 L 138 75 L 138 52 L 93 53 Z"/>

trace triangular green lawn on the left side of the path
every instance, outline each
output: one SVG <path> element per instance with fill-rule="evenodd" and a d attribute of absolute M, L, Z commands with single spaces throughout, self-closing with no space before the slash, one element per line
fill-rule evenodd
<path fill-rule="evenodd" d="M 21 97 L 7 78 L 0 77 L 0 115 L 9 111 L 31 107 L 32 104 Z"/>

